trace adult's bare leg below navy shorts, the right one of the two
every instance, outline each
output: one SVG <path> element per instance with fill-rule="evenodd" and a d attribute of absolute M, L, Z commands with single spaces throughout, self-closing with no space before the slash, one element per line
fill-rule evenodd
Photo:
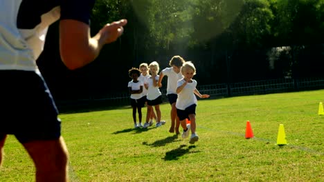
<path fill-rule="evenodd" d="M 63 137 L 24 143 L 36 167 L 36 181 L 69 181 L 69 154 Z"/>

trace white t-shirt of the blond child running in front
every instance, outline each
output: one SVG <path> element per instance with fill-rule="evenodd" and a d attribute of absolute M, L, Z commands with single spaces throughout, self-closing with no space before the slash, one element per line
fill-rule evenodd
<path fill-rule="evenodd" d="M 177 87 L 183 85 L 186 81 L 184 79 L 180 79 L 178 81 Z M 187 85 L 181 90 L 178 94 L 178 99 L 176 102 L 176 108 L 179 110 L 186 110 L 190 105 L 197 105 L 197 98 L 195 96 L 195 89 L 197 86 L 197 81 L 192 79 L 192 83 L 187 83 Z"/>

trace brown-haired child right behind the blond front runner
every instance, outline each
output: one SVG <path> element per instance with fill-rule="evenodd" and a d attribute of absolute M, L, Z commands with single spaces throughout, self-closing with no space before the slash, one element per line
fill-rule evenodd
<path fill-rule="evenodd" d="M 171 126 L 169 132 L 174 133 L 174 130 L 176 134 L 180 134 L 179 132 L 179 125 L 180 121 L 177 117 L 177 108 L 176 108 L 176 101 L 177 101 L 177 81 L 181 79 L 183 76 L 180 72 L 181 66 L 184 63 L 184 59 L 180 56 L 174 56 L 169 62 L 170 68 L 165 68 L 160 72 L 159 77 L 159 87 L 161 88 L 162 84 L 161 81 L 164 76 L 168 76 L 168 86 L 167 86 L 167 97 L 169 100 L 169 103 L 171 105 Z"/>

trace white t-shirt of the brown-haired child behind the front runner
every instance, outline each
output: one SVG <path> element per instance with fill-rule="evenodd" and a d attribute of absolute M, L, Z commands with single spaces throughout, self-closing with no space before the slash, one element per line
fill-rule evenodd
<path fill-rule="evenodd" d="M 164 76 L 168 76 L 167 94 L 177 94 L 177 81 L 183 78 L 181 72 L 177 73 L 171 68 L 161 71 Z"/>

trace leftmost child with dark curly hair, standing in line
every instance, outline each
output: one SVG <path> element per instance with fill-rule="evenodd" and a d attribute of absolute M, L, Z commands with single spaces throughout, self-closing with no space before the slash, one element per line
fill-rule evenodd
<path fill-rule="evenodd" d="M 128 82 L 128 89 L 130 96 L 131 105 L 133 108 L 133 121 L 134 121 L 134 128 L 138 128 L 142 125 L 142 108 L 144 107 L 144 97 L 142 95 L 143 92 L 143 82 L 138 80 L 141 72 L 138 68 L 132 68 L 128 71 L 129 77 L 132 78 L 132 81 Z M 139 125 L 136 123 L 136 110 L 138 112 L 138 122 Z"/>

